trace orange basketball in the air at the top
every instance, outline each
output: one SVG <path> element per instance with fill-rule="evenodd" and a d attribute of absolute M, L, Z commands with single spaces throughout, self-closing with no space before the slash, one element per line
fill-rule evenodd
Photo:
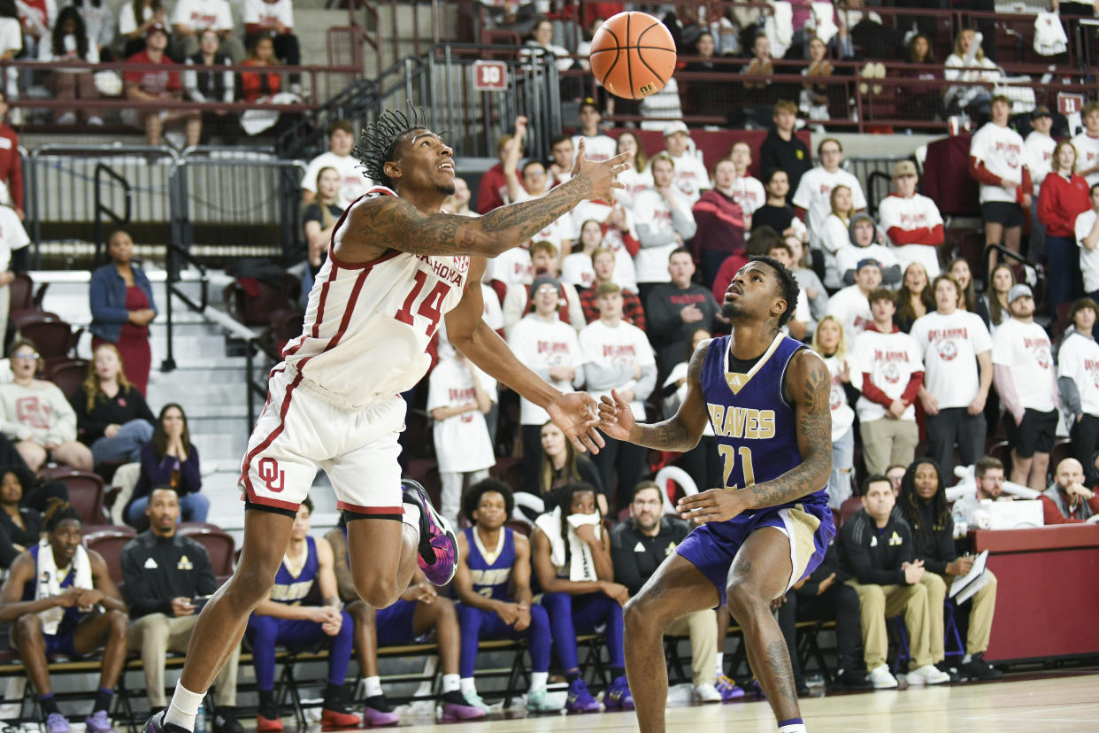
<path fill-rule="evenodd" d="M 671 78 L 676 44 L 664 23 L 648 13 L 619 13 L 596 31 L 589 62 L 607 91 L 624 99 L 643 99 Z"/>

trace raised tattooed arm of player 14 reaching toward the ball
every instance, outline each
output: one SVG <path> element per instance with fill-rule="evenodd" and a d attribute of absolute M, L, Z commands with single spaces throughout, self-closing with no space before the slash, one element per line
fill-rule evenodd
<path fill-rule="evenodd" d="M 536 199 L 469 218 L 425 214 L 401 197 L 378 196 L 352 210 L 348 229 L 369 246 L 385 243 L 417 255 L 495 257 L 531 238 L 580 201 L 611 200 L 611 189 L 621 188 L 615 176 L 630 167 L 629 159 L 630 154 L 623 153 L 609 160 L 588 160 L 581 141 L 573 178 Z"/>

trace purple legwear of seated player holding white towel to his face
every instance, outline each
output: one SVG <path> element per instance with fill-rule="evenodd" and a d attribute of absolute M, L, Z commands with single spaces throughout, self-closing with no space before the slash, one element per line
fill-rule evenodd
<path fill-rule="evenodd" d="M 622 607 L 618 601 L 600 592 L 584 596 L 543 593 L 539 603 L 550 614 L 550 629 L 565 671 L 580 666 L 576 653 L 576 635 L 593 634 L 600 626 L 606 626 L 603 635 L 607 637 L 607 652 L 611 657 L 610 666 L 625 666 Z"/>

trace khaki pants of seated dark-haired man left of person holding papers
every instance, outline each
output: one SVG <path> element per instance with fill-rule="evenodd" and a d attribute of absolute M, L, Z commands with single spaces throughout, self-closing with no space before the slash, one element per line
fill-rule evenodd
<path fill-rule="evenodd" d="M 914 586 L 863 586 L 855 580 L 848 580 L 847 585 L 858 593 L 858 609 L 863 617 L 863 658 L 868 670 L 886 663 L 889 652 L 886 619 L 901 613 L 908 626 L 909 668 L 918 669 L 931 664 L 925 586 L 919 582 Z"/>

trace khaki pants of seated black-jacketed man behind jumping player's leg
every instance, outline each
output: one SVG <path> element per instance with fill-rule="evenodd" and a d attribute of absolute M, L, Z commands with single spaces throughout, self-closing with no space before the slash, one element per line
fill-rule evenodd
<path fill-rule="evenodd" d="M 129 648 L 141 653 L 142 671 L 145 673 L 145 691 L 153 708 L 168 704 L 164 692 L 164 664 L 168 652 L 186 652 L 191 631 L 198 622 L 198 614 L 168 617 L 149 613 L 130 624 Z M 241 660 L 241 647 L 233 649 L 229 662 L 218 673 L 213 684 L 218 688 L 218 704 L 236 704 L 236 667 Z"/>

